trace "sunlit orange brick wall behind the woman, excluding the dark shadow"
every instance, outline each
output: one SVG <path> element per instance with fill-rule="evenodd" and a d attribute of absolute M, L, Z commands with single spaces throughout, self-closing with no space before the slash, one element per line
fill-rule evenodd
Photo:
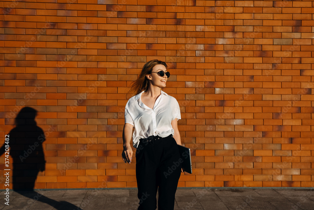
<path fill-rule="evenodd" d="M 136 187 L 121 158 L 126 89 L 160 59 L 192 151 L 180 187 L 313 187 L 313 5 L 1 1 L 1 144 L 33 107 L 46 135 L 36 188 Z"/>

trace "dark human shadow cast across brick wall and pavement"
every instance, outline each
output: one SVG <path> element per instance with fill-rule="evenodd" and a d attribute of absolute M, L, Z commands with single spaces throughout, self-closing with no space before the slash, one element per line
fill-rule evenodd
<path fill-rule="evenodd" d="M 56 209 L 80 209 L 66 201 L 55 201 L 38 191 L 34 191 L 35 181 L 38 173 L 45 170 L 45 156 L 42 143 L 46 140 L 43 130 L 37 126 L 35 117 L 37 111 L 31 107 L 24 107 L 15 118 L 15 128 L 6 136 L 8 144 L 4 143 L 0 149 L 0 156 L 5 153 L 9 145 L 9 155 L 13 159 L 13 169 L 4 170 L 3 175 L 9 172 L 12 180 L 9 184 L 13 185 L 13 190 L 28 197 L 28 204 L 34 201 L 41 201 L 49 204 Z M 8 149 L 7 149 L 8 150 Z M 8 155 L 6 152 L 5 155 Z M 8 157 L 8 156 L 6 156 Z M 9 163 L 10 165 L 11 163 Z M 6 165 L 4 165 L 4 168 Z M 8 186 L 5 186 L 8 188 Z"/>

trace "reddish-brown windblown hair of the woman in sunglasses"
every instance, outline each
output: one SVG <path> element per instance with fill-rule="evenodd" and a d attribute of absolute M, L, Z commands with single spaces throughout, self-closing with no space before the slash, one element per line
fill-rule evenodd
<path fill-rule="evenodd" d="M 131 83 L 131 87 L 129 90 L 129 93 L 136 93 L 139 94 L 140 92 L 142 92 L 143 90 L 147 90 L 148 89 L 148 79 L 146 77 L 146 75 L 152 73 L 153 67 L 155 65 L 164 65 L 167 68 L 167 64 L 164 61 L 161 60 L 150 60 L 148 61 L 142 68 L 141 73 L 138 75 L 137 80 L 135 80 L 134 82 Z"/>

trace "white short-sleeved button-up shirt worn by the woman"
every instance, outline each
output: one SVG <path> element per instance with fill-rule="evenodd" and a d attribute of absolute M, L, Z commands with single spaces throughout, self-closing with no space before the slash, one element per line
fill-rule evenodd
<path fill-rule="evenodd" d="M 144 92 L 144 91 L 143 91 Z M 161 90 L 153 109 L 146 106 L 139 93 L 127 101 L 124 112 L 124 122 L 133 125 L 133 147 L 137 148 L 139 139 L 149 136 L 162 138 L 174 134 L 171 121 L 181 119 L 180 107 L 177 100 Z"/>

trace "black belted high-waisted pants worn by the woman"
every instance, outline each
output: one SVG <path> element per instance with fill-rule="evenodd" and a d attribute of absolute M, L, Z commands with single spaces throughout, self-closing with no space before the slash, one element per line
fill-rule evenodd
<path fill-rule="evenodd" d="M 159 138 L 159 139 L 158 139 Z M 138 209 L 174 208 L 175 194 L 181 175 L 180 154 L 176 140 L 170 136 L 155 136 L 151 141 L 140 139 L 136 149 L 136 180 Z"/>

